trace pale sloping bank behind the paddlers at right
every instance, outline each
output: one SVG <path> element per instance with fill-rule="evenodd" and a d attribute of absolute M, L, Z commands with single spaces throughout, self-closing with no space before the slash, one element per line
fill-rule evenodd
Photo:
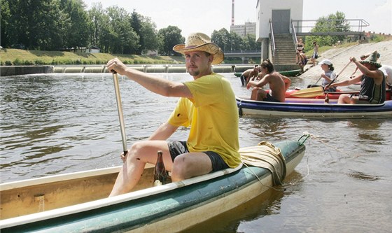
<path fill-rule="evenodd" d="M 349 62 L 350 57 L 356 57 L 357 59 L 360 59 L 360 55 L 367 54 L 374 50 L 377 50 L 381 54 L 381 57 L 379 58 L 378 62 L 390 66 L 392 65 L 392 40 L 382 41 L 379 43 L 357 44 L 346 48 L 333 48 L 331 50 L 323 52 L 321 54 L 321 57 L 318 57 L 317 60 L 318 62 L 320 62 L 322 59 L 330 59 L 333 66 L 335 66 L 335 73 L 338 74 Z M 307 80 L 305 82 L 306 84 L 314 84 L 316 83 L 318 78 L 320 78 L 320 75 L 321 73 L 323 73 L 323 70 L 318 65 L 311 67 L 311 65 L 309 64 L 310 62 L 307 64 L 307 66 L 304 67 L 304 69 L 307 69 L 307 71 L 302 73 L 300 77 Z M 349 64 L 349 66 L 347 66 L 347 68 L 342 72 L 342 74 L 340 74 L 338 80 L 348 79 L 351 73 L 355 71 L 355 69 L 355 64 Z M 318 84 L 320 84 L 320 82 Z"/>

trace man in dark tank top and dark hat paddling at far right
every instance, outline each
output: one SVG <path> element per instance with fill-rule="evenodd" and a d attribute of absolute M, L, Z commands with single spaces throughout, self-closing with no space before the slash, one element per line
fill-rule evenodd
<path fill-rule="evenodd" d="M 355 57 L 350 60 L 360 70 L 362 74 L 338 83 L 332 83 L 330 87 L 345 86 L 360 82 L 359 95 L 341 94 L 338 104 L 381 104 L 386 98 L 385 76 L 379 70 L 381 64 L 377 63 L 378 52 L 374 51 L 365 60 L 358 61 Z M 325 87 L 325 88 L 328 88 Z"/>

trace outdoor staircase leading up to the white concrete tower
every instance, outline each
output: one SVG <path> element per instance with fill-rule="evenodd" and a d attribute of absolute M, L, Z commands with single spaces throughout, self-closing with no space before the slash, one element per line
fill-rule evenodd
<path fill-rule="evenodd" d="M 274 64 L 295 64 L 295 45 L 291 34 L 274 34 Z"/>

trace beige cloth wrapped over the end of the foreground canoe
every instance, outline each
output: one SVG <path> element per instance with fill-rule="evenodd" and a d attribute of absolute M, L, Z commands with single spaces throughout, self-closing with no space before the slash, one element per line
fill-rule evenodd
<path fill-rule="evenodd" d="M 269 141 L 262 141 L 258 146 L 239 149 L 241 161 L 244 164 L 262 167 L 271 171 L 274 185 L 281 185 L 286 177 L 286 160 L 281 149 Z"/>

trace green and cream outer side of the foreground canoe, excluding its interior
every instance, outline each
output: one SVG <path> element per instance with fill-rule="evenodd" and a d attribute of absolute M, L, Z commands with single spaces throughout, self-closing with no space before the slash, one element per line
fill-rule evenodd
<path fill-rule="evenodd" d="M 297 141 L 283 141 L 275 146 L 282 150 L 288 175 L 301 161 L 305 148 Z M 207 180 L 198 177 L 195 179 L 201 180 L 197 182 L 188 179 L 1 220 L 0 229 L 1 232 L 177 232 L 233 209 L 272 186 L 270 172 L 259 167 L 244 166 L 230 173 L 226 170 L 217 173 L 205 175 L 214 176 Z"/>

